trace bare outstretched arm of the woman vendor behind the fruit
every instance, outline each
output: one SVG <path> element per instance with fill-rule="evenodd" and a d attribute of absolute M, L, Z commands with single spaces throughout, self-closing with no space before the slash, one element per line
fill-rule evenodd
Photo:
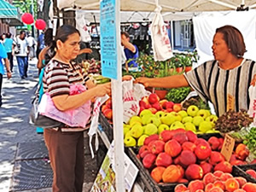
<path fill-rule="evenodd" d="M 135 83 L 144 84 L 145 87 L 177 88 L 187 87 L 189 83 L 183 74 L 172 75 L 165 78 L 137 78 Z"/>

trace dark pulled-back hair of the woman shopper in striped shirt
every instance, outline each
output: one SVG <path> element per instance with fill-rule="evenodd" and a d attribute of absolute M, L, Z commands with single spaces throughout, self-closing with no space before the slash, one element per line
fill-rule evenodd
<path fill-rule="evenodd" d="M 57 49 L 56 42 L 58 40 L 61 40 L 62 43 L 65 43 L 67 41 L 68 36 L 72 35 L 74 33 L 78 33 L 80 35 L 79 30 L 76 29 L 74 26 L 70 26 L 70 25 L 63 25 L 57 29 L 55 39 L 52 40 L 49 50 L 47 51 L 48 53 L 44 57 L 45 64 L 47 64 L 51 60 L 51 58 L 53 58 L 55 56 L 56 49 Z M 45 33 L 44 33 L 44 35 L 45 35 Z"/>

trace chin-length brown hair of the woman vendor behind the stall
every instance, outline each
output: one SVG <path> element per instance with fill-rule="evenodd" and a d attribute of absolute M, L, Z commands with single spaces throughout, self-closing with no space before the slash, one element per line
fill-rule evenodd
<path fill-rule="evenodd" d="M 232 55 L 239 58 L 247 51 L 242 34 L 235 26 L 222 26 L 216 29 L 216 32 L 223 34 Z"/>

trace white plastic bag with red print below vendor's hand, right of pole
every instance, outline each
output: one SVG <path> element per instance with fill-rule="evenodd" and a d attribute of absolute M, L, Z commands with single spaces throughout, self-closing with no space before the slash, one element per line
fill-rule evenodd
<path fill-rule="evenodd" d="M 143 96 L 149 96 L 150 92 L 145 90 L 143 84 L 133 84 L 133 79 L 130 81 L 123 81 L 123 103 L 124 113 L 123 121 L 128 123 L 132 116 L 139 113 L 139 101 Z"/>

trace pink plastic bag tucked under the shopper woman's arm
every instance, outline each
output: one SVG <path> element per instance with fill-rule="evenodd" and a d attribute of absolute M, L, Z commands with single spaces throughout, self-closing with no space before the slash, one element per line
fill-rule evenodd
<path fill-rule="evenodd" d="M 70 95 L 77 95 L 84 92 L 86 88 L 82 84 L 72 84 L 70 86 Z M 65 112 L 55 108 L 55 104 L 46 92 L 42 96 L 42 100 L 38 107 L 38 112 L 51 119 L 58 120 L 64 124 L 73 127 L 85 127 L 90 119 L 90 101 L 86 102 L 79 108 L 70 109 Z"/>

